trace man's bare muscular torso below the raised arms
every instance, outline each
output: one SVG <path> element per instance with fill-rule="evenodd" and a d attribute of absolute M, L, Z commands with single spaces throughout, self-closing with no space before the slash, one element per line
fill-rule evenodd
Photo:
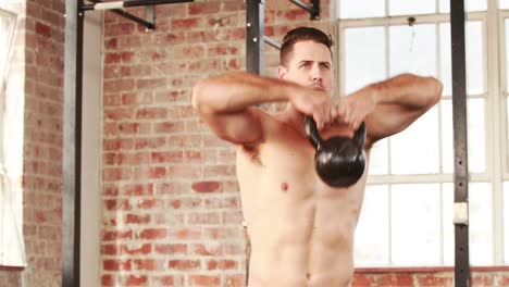
<path fill-rule="evenodd" d="M 249 287 L 350 286 L 367 171 L 349 188 L 331 188 L 314 172 L 314 149 L 302 134 L 270 116 L 263 122 L 263 144 L 237 150 Z"/>

